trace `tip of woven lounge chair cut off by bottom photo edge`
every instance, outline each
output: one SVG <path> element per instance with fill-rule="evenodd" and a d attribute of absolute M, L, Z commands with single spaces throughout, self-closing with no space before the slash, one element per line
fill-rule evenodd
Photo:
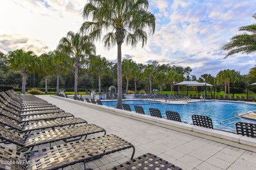
<path fill-rule="evenodd" d="M 124 170 L 124 169 L 173 169 L 182 170 L 180 167 L 175 166 L 154 154 L 144 154 L 125 163 L 117 165 L 111 170 Z M 109 169 L 110 170 L 110 169 Z"/>

